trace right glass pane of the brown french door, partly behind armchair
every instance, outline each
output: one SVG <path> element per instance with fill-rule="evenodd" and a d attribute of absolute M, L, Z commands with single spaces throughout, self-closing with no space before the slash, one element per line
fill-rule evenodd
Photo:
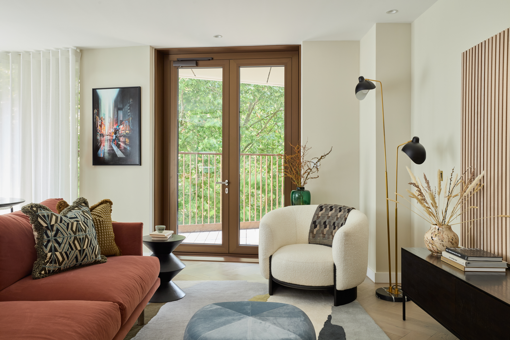
<path fill-rule="evenodd" d="M 240 67 L 239 244 L 259 244 L 259 224 L 283 207 L 285 67 Z"/>

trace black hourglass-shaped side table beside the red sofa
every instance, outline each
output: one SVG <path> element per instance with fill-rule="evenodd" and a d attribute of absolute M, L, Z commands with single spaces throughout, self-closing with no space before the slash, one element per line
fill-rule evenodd
<path fill-rule="evenodd" d="M 171 280 L 186 267 L 186 264 L 172 254 L 173 250 L 186 237 L 172 235 L 165 240 L 151 238 L 148 235 L 143 236 L 143 244 L 152 252 L 150 256 L 156 256 L 160 260 L 160 275 L 158 277 L 161 284 L 149 302 L 170 302 L 184 298 L 186 293 Z"/>

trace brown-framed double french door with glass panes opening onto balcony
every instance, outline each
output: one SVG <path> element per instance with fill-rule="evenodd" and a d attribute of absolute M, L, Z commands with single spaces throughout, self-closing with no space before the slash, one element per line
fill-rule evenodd
<path fill-rule="evenodd" d="M 299 53 L 253 47 L 156 50 L 155 224 L 187 237 L 177 253 L 256 256 L 261 218 L 290 205 L 277 155 L 299 140 Z"/>

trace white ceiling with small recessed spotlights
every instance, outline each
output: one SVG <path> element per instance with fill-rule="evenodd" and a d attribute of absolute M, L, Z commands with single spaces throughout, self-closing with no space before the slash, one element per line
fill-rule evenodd
<path fill-rule="evenodd" d="M 436 1 L 0 0 L 0 51 L 360 40 L 375 22 L 412 22 Z"/>

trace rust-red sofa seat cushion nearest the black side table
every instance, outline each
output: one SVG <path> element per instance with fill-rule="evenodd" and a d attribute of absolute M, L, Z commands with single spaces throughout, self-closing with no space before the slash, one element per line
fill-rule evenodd
<path fill-rule="evenodd" d="M 121 322 L 130 317 L 159 275 L 154 256 L 114 256 L 108 262 L 48 276 L 25 277 L 0 291 L 0 301 L 110 301 L 120 307 Z"/>

